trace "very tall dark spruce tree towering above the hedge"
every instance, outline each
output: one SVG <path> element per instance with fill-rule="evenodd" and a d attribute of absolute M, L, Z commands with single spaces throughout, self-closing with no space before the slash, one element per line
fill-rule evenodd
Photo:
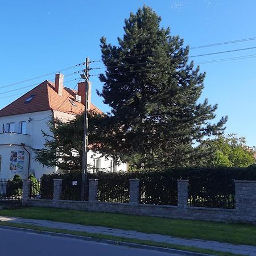
<path fill-rule="evenodd" d="M 112 109 L 101 150 L 137 167 L 189 166 L 207 154 L 193 144 L 221 134 L 226 117 L 211 122 L 217 105 L 199 103 L 205 73 L 188 60 L 183 39 L 161 28 L 160 20 L 144 6 L 125 19 L 118 46 L 101 38 L 106 72 L 98 93 Z"/>

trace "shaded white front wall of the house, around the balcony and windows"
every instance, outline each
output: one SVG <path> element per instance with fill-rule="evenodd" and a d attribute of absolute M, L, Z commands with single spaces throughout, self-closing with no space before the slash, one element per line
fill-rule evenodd
<path fill-rule="evenodd" d="M 1 171 L 0 171 L 0 179 L 10 179 L 15 174 L 26 178 L 28 173 L 28 153 L 24 150 L 21 143 L 25 143 L 25 147 L 31 154 L 30 161 L 30 172 L 34 172 L 37 178 L 41 177 L 45 173 L 52 173 L 55 171 L 55 168 L 49 168 L 43 166 L 38 162 L 35 162 L 34 157 L 35 154 L 32 151 L 32 148 L 38 149 L 43 148 L 43 144 L 45 143 L 45 138 L 42 136 L 42 130 L 48 131 L 49 128 L 47 126 L 47 122 L 51 120 L 52 111 L 44 111 L 44 112 L 34 112 L 34 113 L 26 113 L 19 115 L 9 115 L 7 117 L 0 117 L 0 155 L 2 156 L 1 160 Z M 7 123 L 15 123 L 14 133 L 19 133 L 19 122 L 26 122 L 26 134 L 13 134 L 15 135 L 15 139 L 10 139 L 11 143 L 6 143 L 6 135 L 2 134 L 3 125 L 5 126 L 5 130 L 7 131 Z M 25 138 L 26 137 L 26 138 Z M 11 151 L 24 151 L 24 163 L 23 163 L 23 171 L 15 171 L 10 170 L 10 154 Z"/>

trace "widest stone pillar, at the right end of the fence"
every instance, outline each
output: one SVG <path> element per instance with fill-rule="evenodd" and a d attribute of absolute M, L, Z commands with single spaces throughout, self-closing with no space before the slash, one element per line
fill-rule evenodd
<path fill-rule="evenodd" d="M 256 222 L 256 181 L 234 180 L 236 212 L 243 221 Z"/>

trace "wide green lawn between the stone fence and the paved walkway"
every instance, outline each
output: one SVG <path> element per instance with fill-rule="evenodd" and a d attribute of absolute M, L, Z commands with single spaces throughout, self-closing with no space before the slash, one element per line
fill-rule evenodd
<path fill-rule="evenodd" d="M 256 226 L 249 224 L 224 224 L 210 221 L 175 220 L 172 218 L 36 207 L 0 210 L 0 215 L 106 226 L 144 233 L 256 246 Z"/>

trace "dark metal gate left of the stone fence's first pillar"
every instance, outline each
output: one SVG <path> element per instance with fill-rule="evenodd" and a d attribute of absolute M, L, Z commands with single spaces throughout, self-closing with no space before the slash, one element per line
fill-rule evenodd
<path fill-rule="evenodd" d="M 22 180 L 0 179 L 0 203 L 21 203 Z"/>

